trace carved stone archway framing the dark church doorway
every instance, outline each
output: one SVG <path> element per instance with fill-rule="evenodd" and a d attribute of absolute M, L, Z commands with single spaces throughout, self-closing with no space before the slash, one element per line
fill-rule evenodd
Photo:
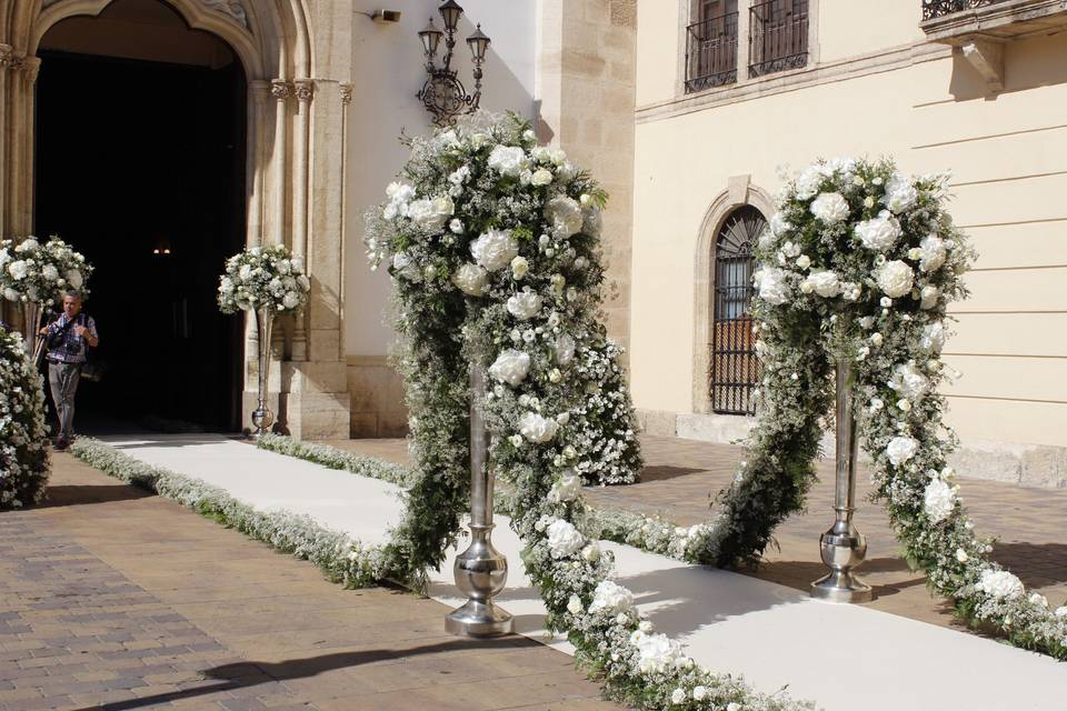
<path fill-rule="evenodd" d="M 341 352 L 345 123 L 351 98 L 350 29 L 307 0 L 163 0 L 191 29 L 218 36 L 248 84 L 246 242 L 285 243 L 312 280 L 302 319 L 277 344 L 270 390 L 298 437 L 347 437 Z M 57 22 L 94 17 L 112 0 L 0 0 L 0 234 L 33 230 L 38 47 Z M 313 39 L 312 39 L 313 38 Z M 321 61 L 317 58 L 323 58 Z M 91 140 L 91 137 L 87 137 Z M 310 194 L 317 199 L 312 204 Z M 311 237 L 313 236 L 313 238 Z M 255 407 L 252 333 L 245 348 L 245 414 Z"/>

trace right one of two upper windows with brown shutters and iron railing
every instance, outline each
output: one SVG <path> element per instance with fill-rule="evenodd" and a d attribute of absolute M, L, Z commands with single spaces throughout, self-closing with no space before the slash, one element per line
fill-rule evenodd
<path fill-rule="evenodd" d="M 808 63 L 808 0 L 769 0 L 749 8 L 748 76 Z"/>

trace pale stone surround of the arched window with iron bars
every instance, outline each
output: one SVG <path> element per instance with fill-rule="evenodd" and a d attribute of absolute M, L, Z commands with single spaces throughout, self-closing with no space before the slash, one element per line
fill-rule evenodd
<path fill-rule="evenodd" d="M 752 206 L 765 216 L 775 211 L 774 199 L 762 188 L 751 184 L 749 176 L 730 178 L 726 190 L 711 201 L 694 254 L 694 339 L 692 339 L 692 411 L 711 412 L 711 392 L 708 380 L 712 340 L 711 309 L 715 303 L 715 246 L 722 223 L 737 208 Z"/>

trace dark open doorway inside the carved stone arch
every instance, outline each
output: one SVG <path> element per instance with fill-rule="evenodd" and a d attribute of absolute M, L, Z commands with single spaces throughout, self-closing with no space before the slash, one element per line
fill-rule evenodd
<path fill-rule="evenodd" d="M 238 429 L 242 320 L 215 299 L 245 242 L 245 96 L 237 61 L 41 52 L 36 232 L 96 267 L 86 310 L 108 364 L 79 389 L 82 431 Z"/>

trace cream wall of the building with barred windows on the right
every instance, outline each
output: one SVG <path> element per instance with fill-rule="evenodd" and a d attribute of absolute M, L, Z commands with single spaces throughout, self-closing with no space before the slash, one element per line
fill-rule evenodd
<path fill-rule="evenodd" d="M 650 4 L 641 2 L 641 20 Z M 862 24 L 857 8 L 875 4 L 893 8 L 878 33 L 842 37 Z M 824 61 L 877 52 L 875 41 L 897 47 L 920 38 L 919 2 L 905 4 L 898 17 L 896 1 L 821 0 Z M 674 60 L 664 51 L 671 31 L 639 22 L 638 96 L 646 101 L 668 86 L 674 91 L 665 80 Z M 973 296 L 953 309 L 958 336 L 946 360 L 964 375 L 947 389 L 950 423 L 965 443 L 1067 445 L 1067 34 L 1009 44 L 1006 91 L 995 98 L 984 96 L 960 57 L 927 58 L 676 117 L 638 111 L 631 314 L 638 408 L 692 411 L 694 250 L 727 179 L 751 174 L 774 192 L 779 164 L 888 154 L 908 172 L 953 170 L 953 213 L 980 252 L 967 278 Z"/>

